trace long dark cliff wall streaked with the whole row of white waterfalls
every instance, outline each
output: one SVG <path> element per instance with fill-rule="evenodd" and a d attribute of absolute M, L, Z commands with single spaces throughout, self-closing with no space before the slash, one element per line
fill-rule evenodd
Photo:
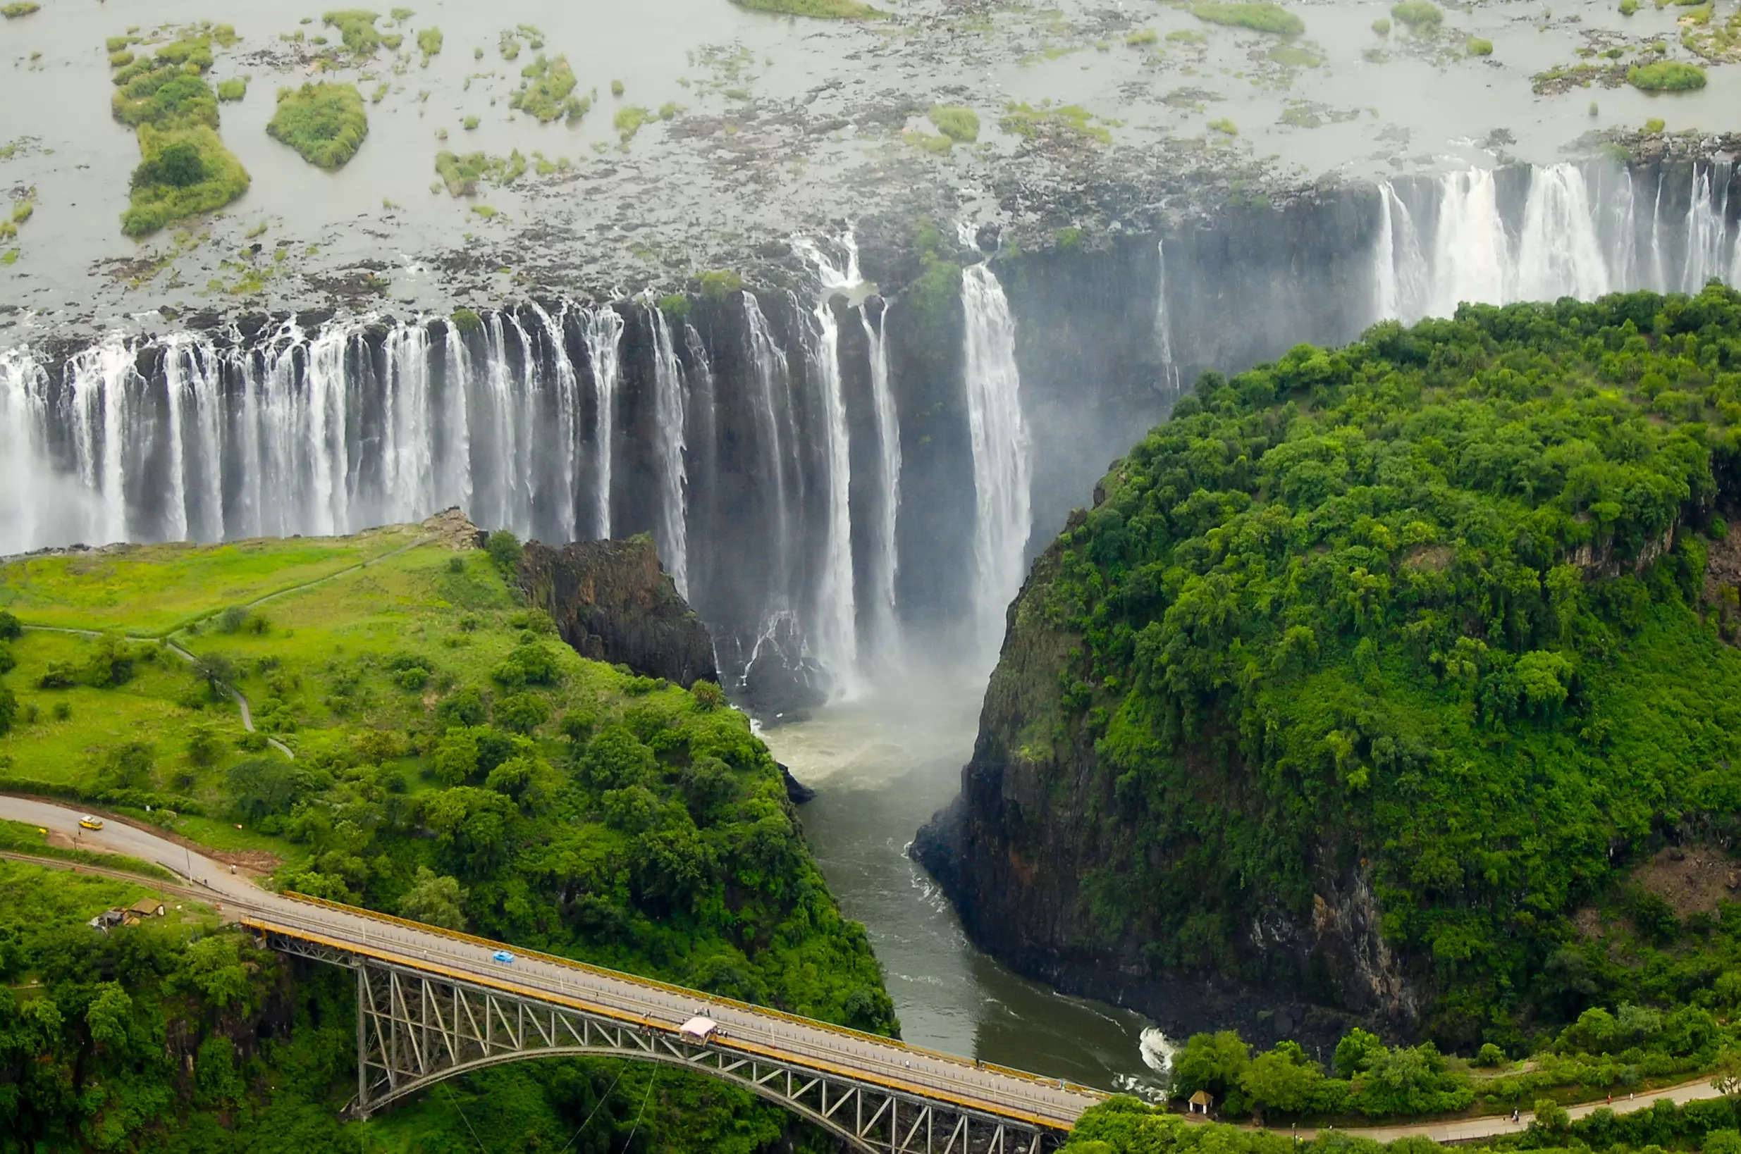
<path fill-rule="evenodd" d="M 0 554 L 449 505 L 554 543 L 649 533 L 728 688 L 780 714 L 911 644 L 989 663 L 1027 559 L 1200 371 L 1459 299 L 1738 277 L 1736 183 L 1476 169 L 1046 252 L 982 230 L 923 275 L 909 226 L 867 219 L 862 270 L 853 233 L 799 238 L 787 287 L 44 341 L 0 353 Z M 937 261 L 966 268 L 942 298 Z"/>

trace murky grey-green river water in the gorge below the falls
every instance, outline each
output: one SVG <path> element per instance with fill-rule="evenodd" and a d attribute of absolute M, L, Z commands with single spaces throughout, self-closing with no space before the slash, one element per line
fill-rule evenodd
<path fill-rule="evenodd" d="M 1161 1062 L 1163 1039 L 1147 1018 L 992 961 L 907 858 L 914 830 L 956 794 L 985 675 L 902 670 L 898 681 L 761 736 L 817 790 L 799 811 L 804 837 L 844 914 L 865 924 L 902 1036 L 1100 1090 L 1158 1093 L 1149 1063 Z"/>

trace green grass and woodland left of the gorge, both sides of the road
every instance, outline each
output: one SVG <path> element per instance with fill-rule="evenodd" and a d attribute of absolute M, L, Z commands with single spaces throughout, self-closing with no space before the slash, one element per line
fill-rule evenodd
<path fill-rule="evenodd" d="M 581 660 L 522 606 L 512 538 L 432 536 L 9 562 L 5 788 L 103 799 L 303 893 L 893 1032 L 864 928 L 719 688 Z M 0 1149 L 817 1140 L 719 1083 L 602 1060 L 486 1070 L 341 1124 L 348 976 L 198 919 L 103 935 L 84 924 L 103 886 L 0 874 Z"/>

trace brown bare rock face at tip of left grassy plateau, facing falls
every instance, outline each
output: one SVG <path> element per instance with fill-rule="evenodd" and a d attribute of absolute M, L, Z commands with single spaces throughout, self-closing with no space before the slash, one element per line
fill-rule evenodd
<path fill-rule="evenodd" d="M 581 656 L 684 688 L 719 681 L 707 627 L 660 567 L 649 536 L 561 548 L 528 541 L 519 578 Z"/>

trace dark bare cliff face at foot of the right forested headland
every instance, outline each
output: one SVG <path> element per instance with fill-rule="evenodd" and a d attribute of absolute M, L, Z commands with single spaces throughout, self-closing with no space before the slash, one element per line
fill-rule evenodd
<path fill-rule="evenodd" d="M 1078 510 L 1067 529 L 1081 524 Z M 961 794 L 918 832 L 911 851 L 954 902 L 968 935 L 1020 973 L 1139 1010 L 1173 1036 L 1231 1027 L 1257 1043 L 1328 1046 L 1356 1018 L 1407 1032 L 1419 997 L 1379 940 L 1372 886 L 1358 865 L 1342 876 L 1321 870 L 1304 916 L 1254 912 L 1245 949 L 1222 973 L 1158 966 L 1142 895 L 1125 895 L 1137 909 L 1107 933 L 1107 919 L 1095 914 L 1107 898 L 1093 879 L 1121 872 L 1137 855 L 1161 865 L 1166 849 L 1118 818 L 1114 775 L 1093 740 L 1065 724 L 1060 675 L 1081 637 L 1048 613 L 1059 554 L 1053 545 L 1034 562 L 1010 606 Z M 1205 804 L 1247 804 L 1236 773 L 1208 764 L 1196 771 L 1213 797 Z"/>

